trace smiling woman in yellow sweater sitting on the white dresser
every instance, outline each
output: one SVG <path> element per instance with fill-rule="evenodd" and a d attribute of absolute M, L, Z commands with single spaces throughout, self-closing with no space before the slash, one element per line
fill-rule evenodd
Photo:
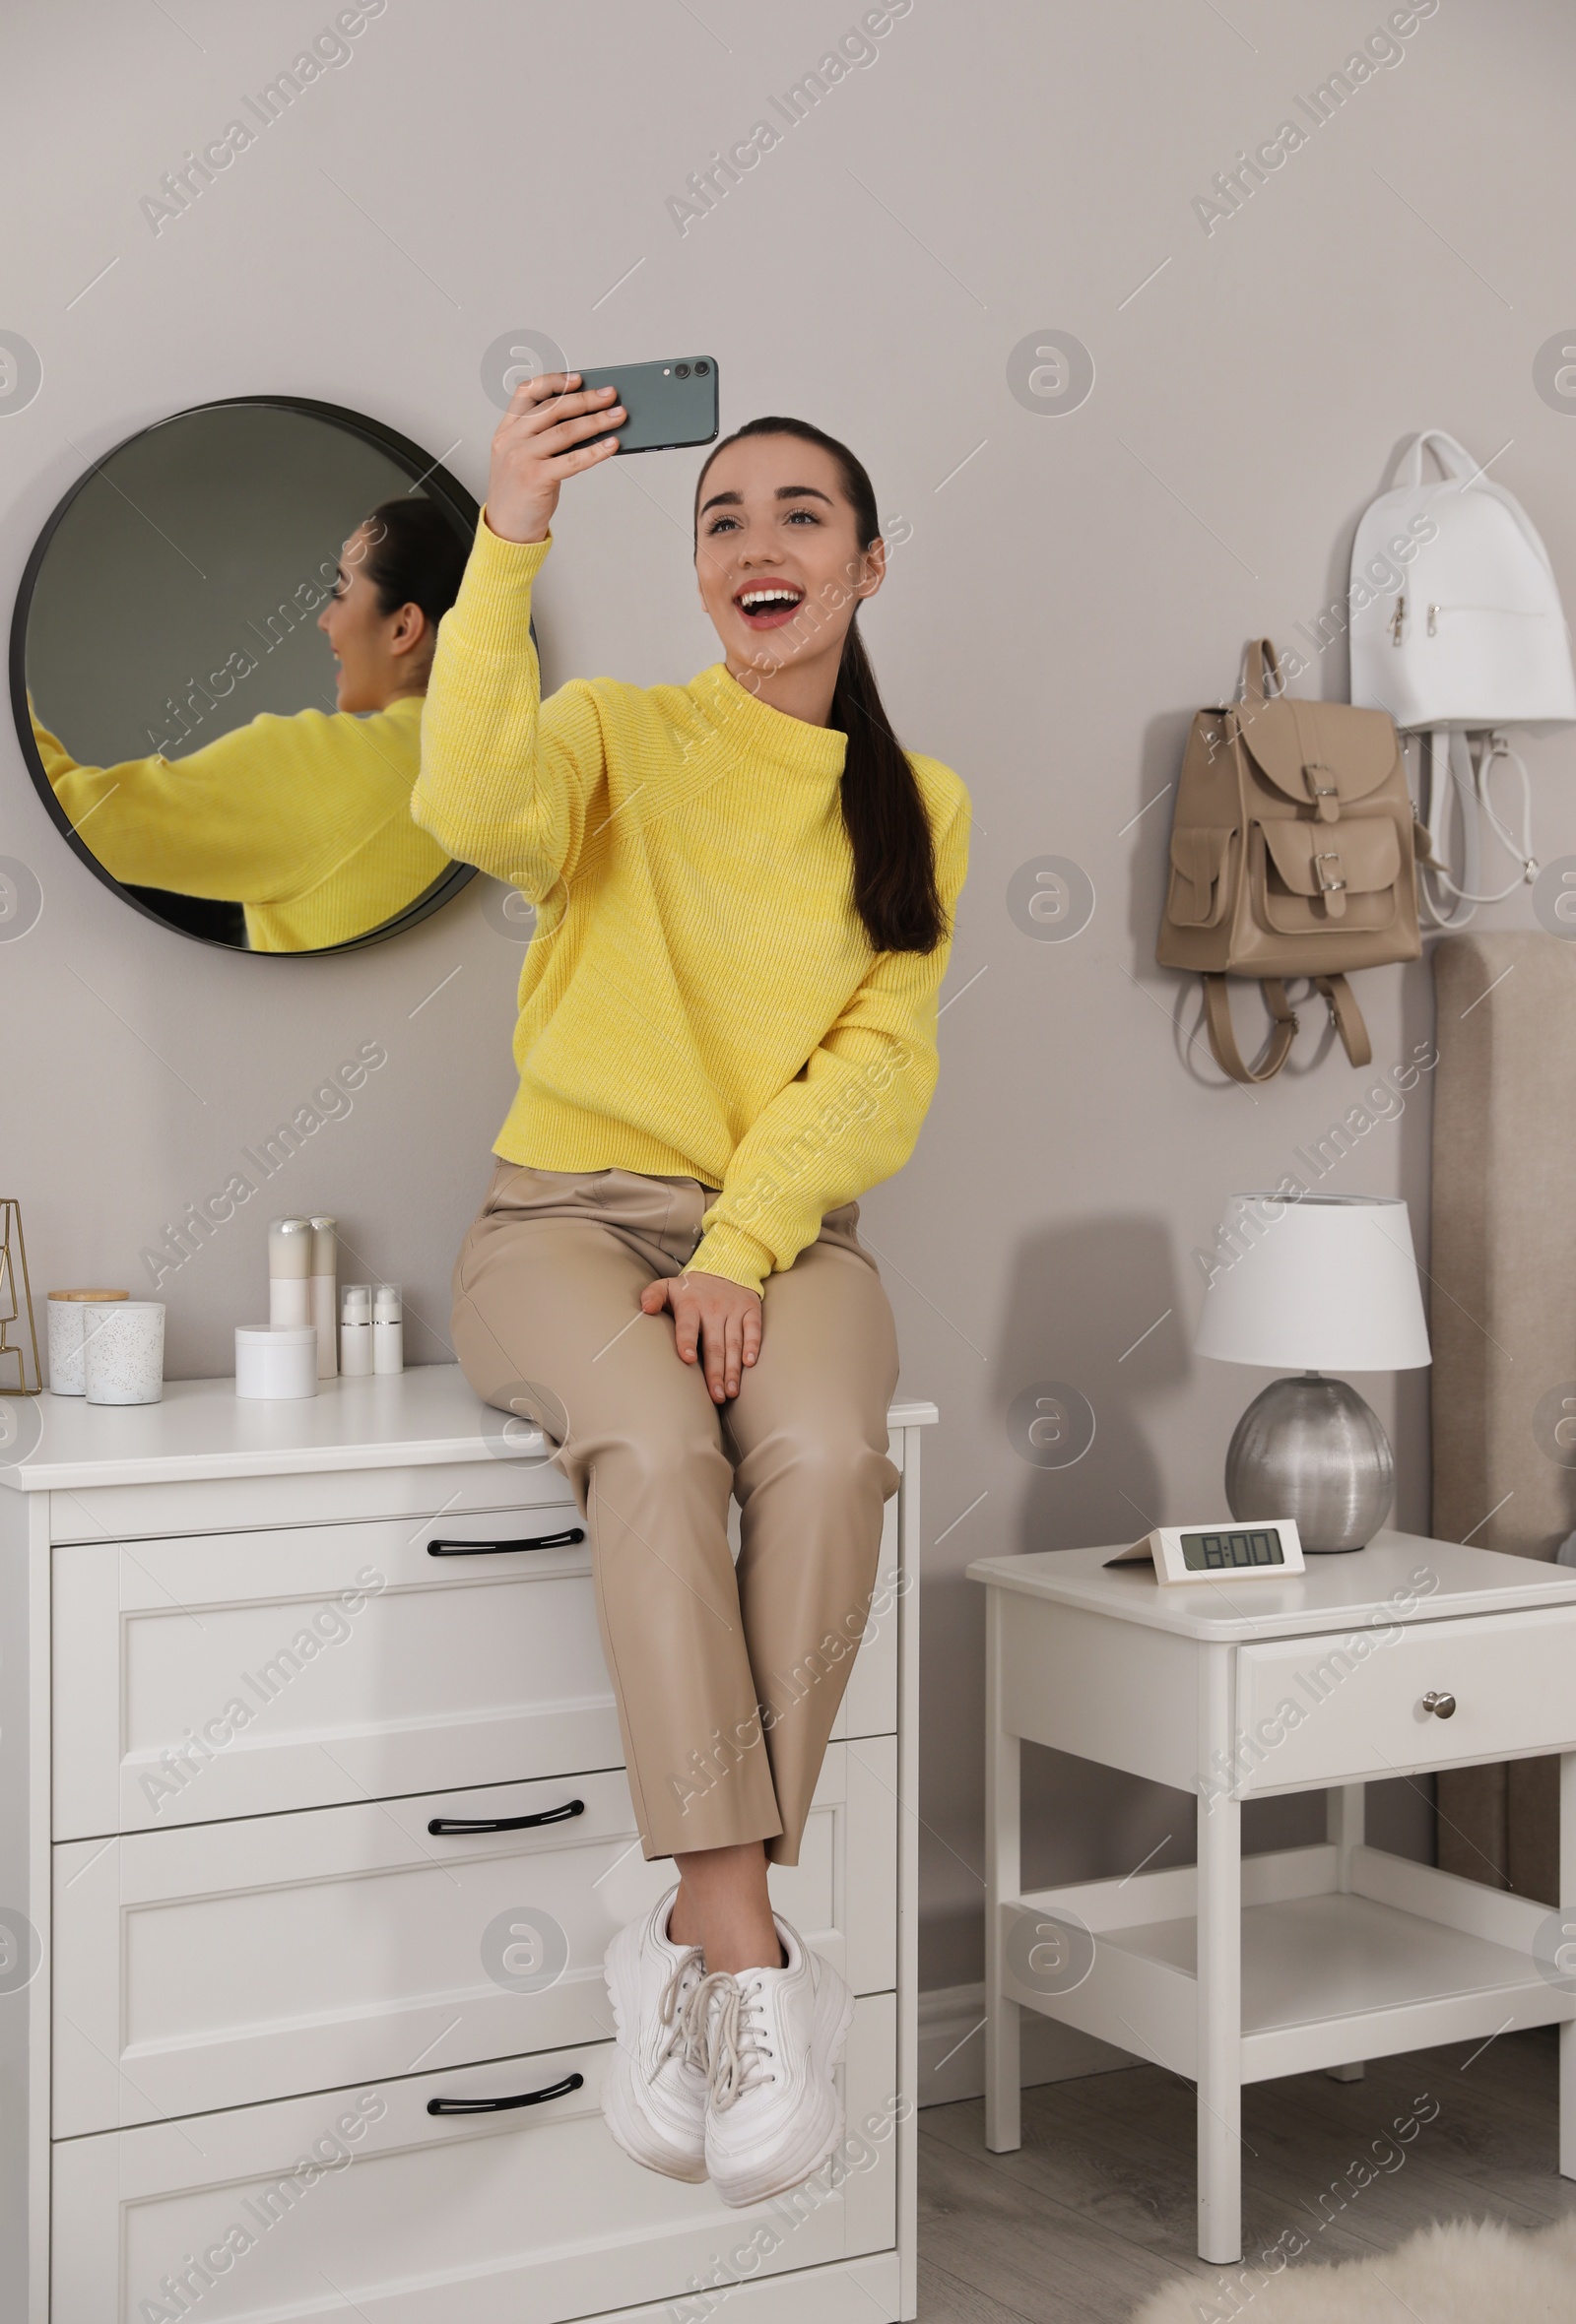
<path fill-rule="evenodd" d="M 411 811 L 539 909 L 453 1336 L 556 1441 L 642 1845 L 679 1868 L 607 1954 L 607 2119 L 755 2203 L 841 2136 L 853 2003 L 774 1917 L 767 1859 L 797 1864 L 897 1490 L 858 1195 L 930 1104 L 969 804 L 888 725 L 853 621 L 883 576 L 869 479 L 802 421 L 753 421 L 700 476 L 723 660 L 539 700 L 530 588 L 563 483 L 616 453 L 614 393 L 530 381 L 493 439 Z"/>

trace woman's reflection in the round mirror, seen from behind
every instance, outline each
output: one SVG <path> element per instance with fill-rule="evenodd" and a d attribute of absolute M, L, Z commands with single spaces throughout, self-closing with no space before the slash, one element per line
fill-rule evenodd
<path fill-rule="evenodd" d="M 409 816 L 421 697 L 465 541 L 430 500 L 349 537 L 318 614 L 337 709 L 265 713 L 184 758 L 79 767 L 33 720 L 56 799 L 126 885 L 242 904 L 253 953 L 311 953 L 393 920 L 449 869 Z M 242 681 L 244 683 L 244 681 Z"/>

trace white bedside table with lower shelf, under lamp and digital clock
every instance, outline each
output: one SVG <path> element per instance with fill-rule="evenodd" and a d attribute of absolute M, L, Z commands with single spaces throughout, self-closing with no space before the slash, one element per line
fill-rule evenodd
<path fill-rule="evenodd" d="M 1557 2022 L 1576 2178 L 1576 1980 L 1555 1982 L 1576 1938 L 1576 1571 L 1381 1532 L 1288 1580 L 1160 1587 L 1106 1569 L 1116 1548 L 969 1566 L 990 1592 L 986 2145 L 1020 2143 L 1020 2008 L 1169 2066 L 1199 2092 L 1199 2257 L 1227 2264 L 1244 2082 Z M 1197 1868 L 1023 1894 L 1023 1741 L 1192 1792 Z M 1562 1755 L 1562 1913 L 1364 1845 L 1364 1780 L 1536 1752 Z M 1244 1862 L 1244 1799 L 1325 1787 L 1323 1845 Z"/>

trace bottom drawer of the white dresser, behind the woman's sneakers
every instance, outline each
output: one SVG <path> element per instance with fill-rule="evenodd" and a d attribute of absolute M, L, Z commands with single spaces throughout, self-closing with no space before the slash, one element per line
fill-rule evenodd
<path fill-rule="evenodd" d="M 205 2324 L 560 2324 L 679 2301 L 695 2278 L 725 2284 L 893 2247 L 897 2143 L 911 2131 L 897 2129 L 909 2101 L 890 1994 L 855 2006 L 839 2068 L 844 2166 L 753 2210 L 621 2154 L 600 2115 L 609 2050 L 60 2140 L 51 2324 L 188 2310 Z M 516 2096 L 569 2075 L 583 2085 L 542 2106 L 428 2113 L 430 2099 Z"/>

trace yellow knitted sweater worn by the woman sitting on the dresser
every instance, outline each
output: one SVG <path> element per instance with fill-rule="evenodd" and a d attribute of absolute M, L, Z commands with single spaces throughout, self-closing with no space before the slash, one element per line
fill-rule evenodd
<path fill-rule="evenodd" d="M 760 1290 L 825 1211 L 902 1169 L 937 1081 L 934 953 L 853 909 L 844 737 L 723 662 L 688 686 L 576 679 L 546 702 L 530 586 L 546 541 L 486 518 L 437 634 L 411 813 L 537 904 L 495 1153 L 721 1188 L 693 1269 Z M 969 797 L 911 758 L 948 913 Z"/>

